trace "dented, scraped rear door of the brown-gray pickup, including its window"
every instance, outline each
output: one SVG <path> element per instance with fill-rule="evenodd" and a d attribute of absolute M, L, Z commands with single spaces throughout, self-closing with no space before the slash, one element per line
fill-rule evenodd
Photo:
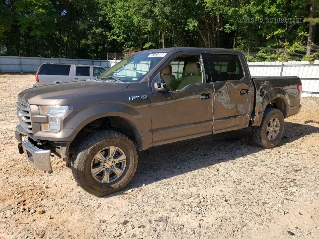
<path fill-rule="evenodd" d="M 248 126 L 254 88 L 240 53 L 211 51 L 208 60 L 215 89 L 213 133 Z"/>

